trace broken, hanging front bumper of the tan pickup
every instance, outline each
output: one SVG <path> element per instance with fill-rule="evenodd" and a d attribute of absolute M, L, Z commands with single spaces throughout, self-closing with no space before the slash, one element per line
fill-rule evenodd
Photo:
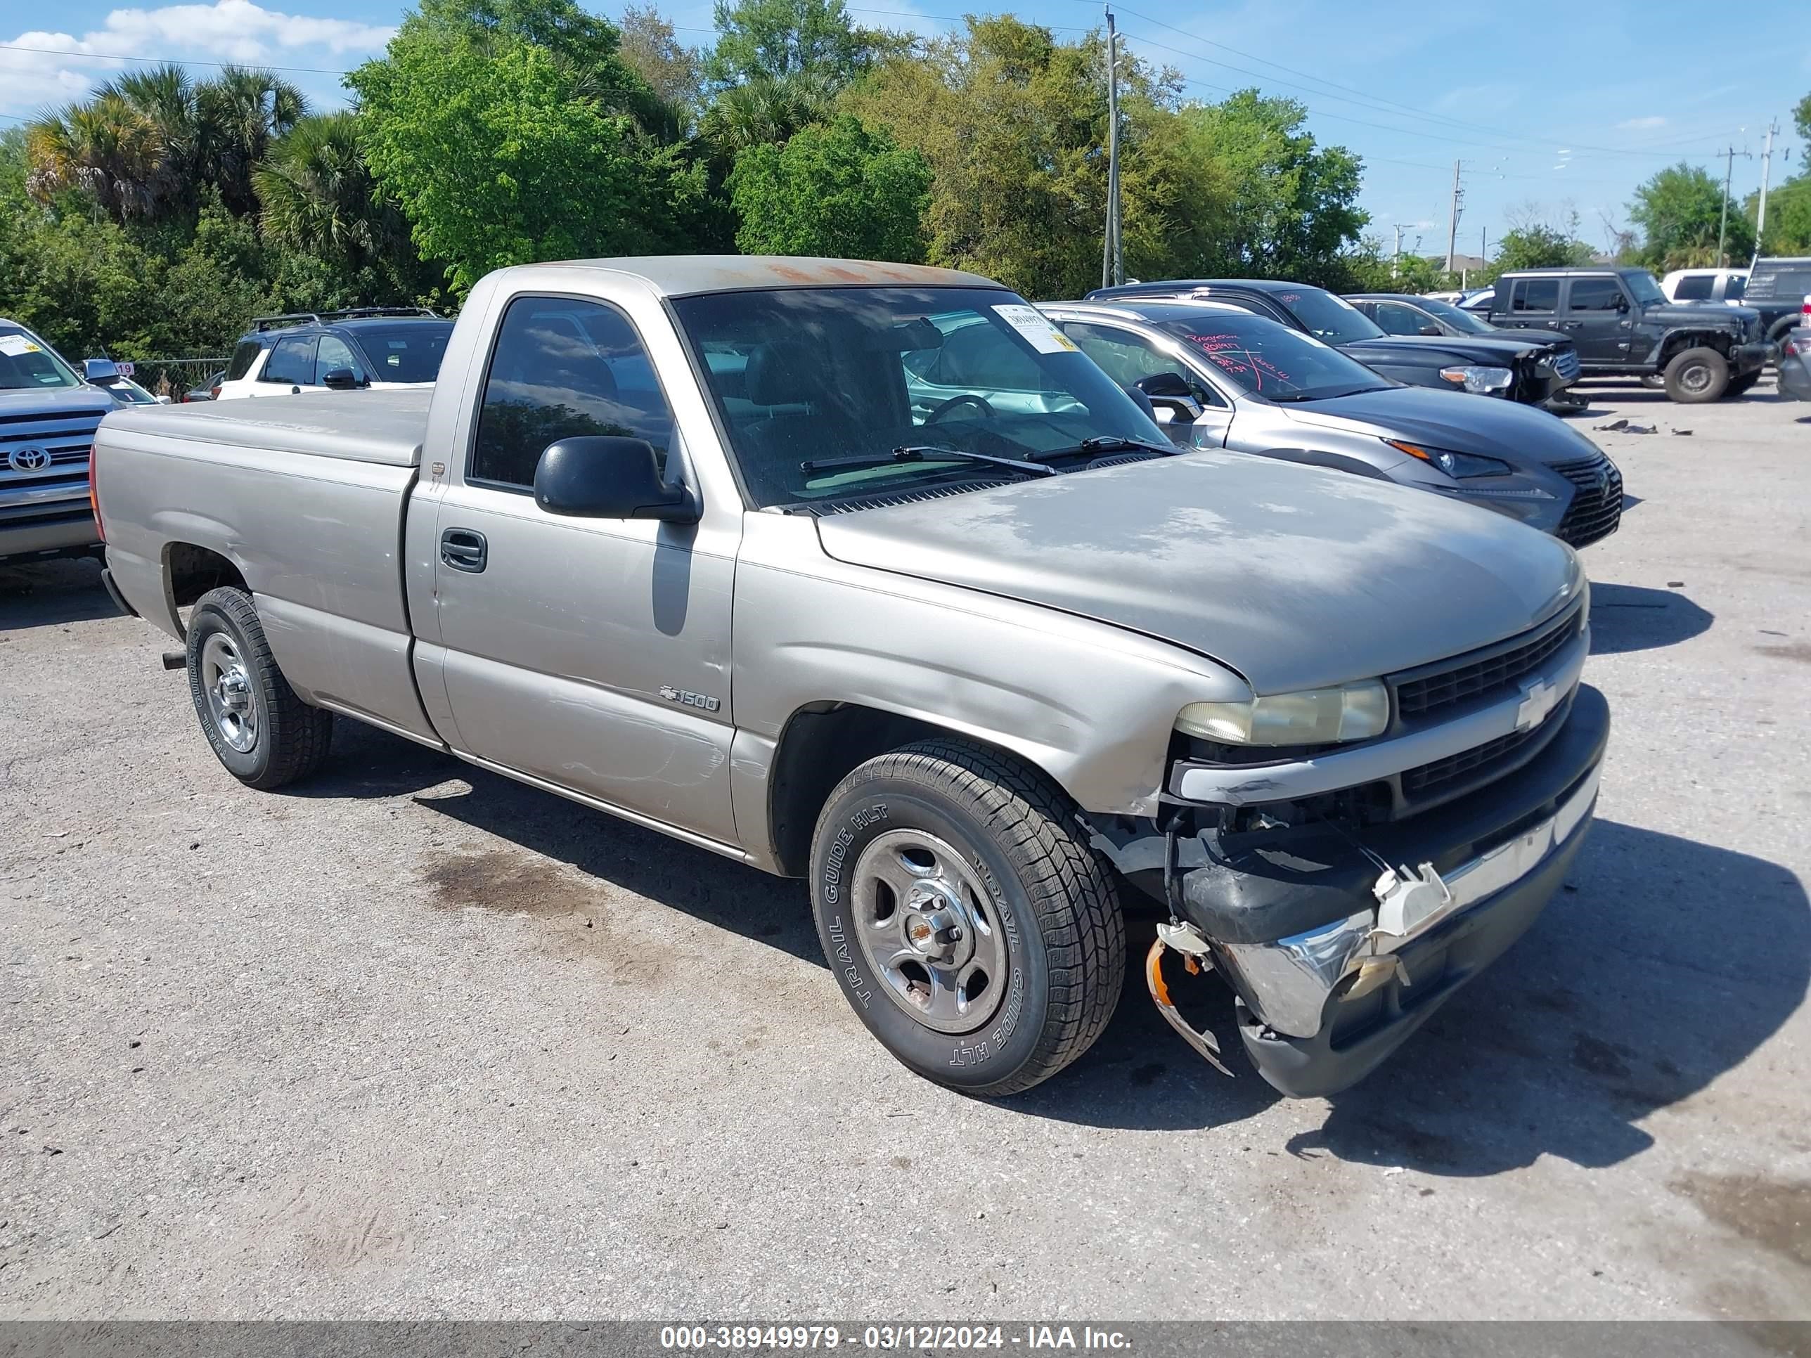
<path fill-rule="evenodd" d="M 1402 820 L 1097 842 L 1170 904 L 1184 931 L 1179 942 L 1170 927 L 1170 947 L 1199 940 L 1195 963 L 1231 983 L 1264 1079 L 1293 1097 L 1331 1094 L 1376 1068 L 1557 891 L 1595 804 L 1610 710 L 1577 686 L 1556 717 L 1557 733 L 1514 773 Z M 1250 791 L 1244 804 L 1264 800 Z M 1148 963 L 1159 980 L 1161 947 Z"/>

